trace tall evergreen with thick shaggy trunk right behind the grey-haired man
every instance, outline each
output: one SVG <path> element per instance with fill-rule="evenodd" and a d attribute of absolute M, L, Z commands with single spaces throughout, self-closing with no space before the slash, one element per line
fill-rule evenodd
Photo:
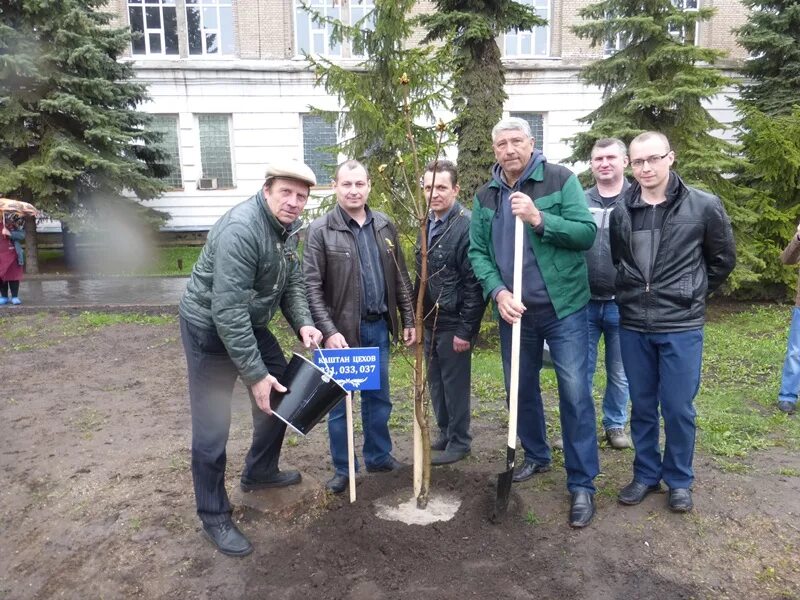
<path fill-rule="evenodd" d="M 453 130 L 463 200 L 489 179 L 495 162 L 491 132 L 503 116 L 505 72 L 496 39 L 506 31 L 546 25 L 531 6 L 513 0 L 435 0 L 420 17 L 424 41 L 440 40 L 454 53 Z"/>

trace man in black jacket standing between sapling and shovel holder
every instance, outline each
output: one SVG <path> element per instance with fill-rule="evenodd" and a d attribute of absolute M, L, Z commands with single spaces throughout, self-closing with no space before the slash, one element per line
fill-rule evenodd
<path fill-rule="evenodd" d="M 470 211 L 456 201 L 458 170 L 449 160 L 425 168 L 428 281 L 424 297 L 425 357 L 428 390 L 436 413 L 438 438 L 431 444 L 431 464 L 457 462 L 470 452 L 470 371 L 472 344 L 486 303 L 467 252 Z M 417 276 L 421 272 L 417 240 Z M 419 279 L 415 288 L 419 289 Z"/>

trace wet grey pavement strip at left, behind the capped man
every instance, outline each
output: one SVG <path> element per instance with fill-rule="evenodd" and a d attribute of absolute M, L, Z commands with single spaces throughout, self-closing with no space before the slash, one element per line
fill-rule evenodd
<path fill-rule="evenodd" d="M 17 308 L 94 308 L 176 306 L 188 277 L 29 278 L 20 283 L 21 307 L 0 306 L 0 315 Z"/>

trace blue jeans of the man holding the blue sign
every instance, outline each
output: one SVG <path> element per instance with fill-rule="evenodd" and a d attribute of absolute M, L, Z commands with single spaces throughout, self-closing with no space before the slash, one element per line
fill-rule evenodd
<path fill-rule="evenodd" d="M 380 350 L 381 389 L 360 392 L 364 462 L 367 467 L 379 467 L 389 461 L 392 452 L 392 438 L 389 435 L 389 416 L 392 414 L 392 401 L 389 397 L 389 327 L 383 319 L 361 321 L 359 334 L 362 347 L 377 347 Z M 347 419 L 344 400 L 328 414 L 328 437 L 333 467 L 339 475 L 347 475 Z"/>

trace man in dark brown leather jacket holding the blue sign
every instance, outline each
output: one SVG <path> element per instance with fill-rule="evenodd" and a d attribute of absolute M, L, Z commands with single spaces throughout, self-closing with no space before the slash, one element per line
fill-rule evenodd
<path fill-rule="evenodd" d="M 361 393 L 364 462 L 369 472 L 393 471 L 403 465 L 391 454 L 389 336 L 402 330 L 407 346 L 416 341 L 411 282 L 394 224 L 367 206 L 364 166 L 342 163 L 333 185 L 336 206 L 309 226 L 303 251 L 308 303 L 326 348 L 379 348 L 381 389 Z M 326 487 L 338 494 L 349 483 L 344 401 L 328 415 L 328 435 L 335 473 Z"/>

